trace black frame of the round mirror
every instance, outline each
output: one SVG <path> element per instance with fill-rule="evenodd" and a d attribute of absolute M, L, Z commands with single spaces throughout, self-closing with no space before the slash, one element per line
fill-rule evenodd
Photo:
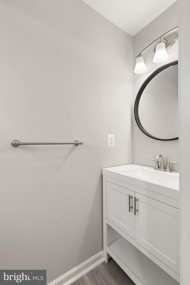
<path fill-rule="evenodd" d="M 139 119 L 139 112 L 138 112 L 138 108 L 139 108 L 139 101 L 140 101 L 140 97 L 145 89 L 145 87 L 148 85 L 148 83 L 158 74 L 160 73 L 162 70 L 170 67 L 170 66 L 173 66 L 173 65 L 176 65 L 178 64 L 178 60 L 176 61 L 172 61 L 168 64 L 165 64 L 161 67 L 159 67 L 158 69 L 156 69 L 146 80 L 145 82 L 143 83 L 143 85 L 140 87 L 138 93 L 137 93 L 137 97 L 135 99 L 135 103 L 134 103 L 134 118 L 136 120 L 136 123 L 137 123 L 137 126 L 139 127 L 139 129 L 145 134 L 147 135 L 148 137 L 151 137 L 152 139 L 155 139 L 155 140 L 177 140 L 179 137 L 175 137 L 173 139 L 160 139 L 159 137 L 154 137 L 152 136 L 151 134 L 149 134 L 142 126 L 141 122 L 140 122 L 140 119 Z"/>

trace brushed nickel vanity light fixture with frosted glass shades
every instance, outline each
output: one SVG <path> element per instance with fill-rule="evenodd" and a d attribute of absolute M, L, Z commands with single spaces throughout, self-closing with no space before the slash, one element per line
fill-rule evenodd
<path fill-rule="evenodd" d="M 156 46 L 154 47 L 154 58 L 153 62 L 160 63 L 169 57 L 167 54 L 167 50 L 172 47 L 178 40 L 178 33 L 176 31 L 178 30 L 178 26 L 174 29 L 168 31 L 161 37 L 157 38 L 155 41 L 153 41 L 150 45 L 148 45 L 144 50 L 142 50 L 138 56 L 136 56 L 136 65 L 134 68 L 134 73 L 142 73 L 147 68 L 145 66 L 144 58 L 142 56 L 143 53 L 145 53 L 146 50 L 148 50 L 150 47 L 152 47 L 156 42 Z"/>

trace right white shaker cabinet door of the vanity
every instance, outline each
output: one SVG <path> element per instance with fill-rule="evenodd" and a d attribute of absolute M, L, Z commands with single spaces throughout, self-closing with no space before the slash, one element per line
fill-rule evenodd
<path fill-rule="evenodd" d="M 135 241 L 180 274 L 179 209 L 135 193 Z"/>

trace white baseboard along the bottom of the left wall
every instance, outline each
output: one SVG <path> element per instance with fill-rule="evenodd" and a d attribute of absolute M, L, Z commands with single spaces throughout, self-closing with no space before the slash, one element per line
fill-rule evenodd
<path fill-rule="evenodd" d="M 84 276 L 86 273 L 101 264 L 103 261 L 104 259 L 102 250 L 77 267 L 58 277 L 56 280 L 50 282 L 48 285 L 71 285 L 73 282 Z"/>

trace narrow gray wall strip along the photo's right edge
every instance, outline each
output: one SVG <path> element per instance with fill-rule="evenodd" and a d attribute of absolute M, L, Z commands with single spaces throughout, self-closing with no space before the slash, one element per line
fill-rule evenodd
<path fill-rule="evenodd" d="M 181 285 L 189 285 L 190 256 L 190 59 L 187 56 L 190 45 L 190 2 L 181 0 L 180 12 L 180 210 L 181 210 Z"/>

